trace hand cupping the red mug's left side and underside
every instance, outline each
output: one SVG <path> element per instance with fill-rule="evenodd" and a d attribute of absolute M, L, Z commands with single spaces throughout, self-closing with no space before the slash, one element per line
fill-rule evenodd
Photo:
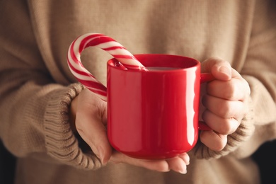
<path fill-rule="evenodd" d="M 108 162 L 128 163 L 154 171 L 173 170 L 178 173 L 186 173 L 186 166 L 190 161 L 186 153 L 172 159 L 141 160 L 113 150 L 108 142 L 106 132 L 107 104 L 88 89 L 84 89 L 79 96 L 74 98 L 70 111 L 72 130 L 79 133 L 103 164 Z"/>

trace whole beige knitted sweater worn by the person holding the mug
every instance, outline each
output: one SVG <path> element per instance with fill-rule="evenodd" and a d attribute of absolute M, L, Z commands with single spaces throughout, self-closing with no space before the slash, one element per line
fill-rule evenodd
<path fill-rule="evenodd" d="M 0 1 L 0 138 L 18 156 L 16 183 L 258 183 L 250 156 L 276 137 L 275 1 Z M 68 121 L 83 87 L 67 50 L 84 33 L 103 33 L 133 54 L 222 57 L 251 86 L 251 109 L 222 151 L 197 144 L 188 173 L 127 164 L 101 166 Z M 102 50 L 82 53 L 103 84 Z"/>

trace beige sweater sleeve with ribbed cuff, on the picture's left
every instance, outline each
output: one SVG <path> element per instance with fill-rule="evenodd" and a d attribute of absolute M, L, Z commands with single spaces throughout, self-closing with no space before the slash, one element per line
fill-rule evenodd
<path fill-rule="evenodd" d="M 53 79 L 27 10 L 24 1 L 0 2 L 0 139 L 18 157 L 38 154 L 57 164 L 99 168 L 69 124 L 69 105 L 83 86 Z"/>

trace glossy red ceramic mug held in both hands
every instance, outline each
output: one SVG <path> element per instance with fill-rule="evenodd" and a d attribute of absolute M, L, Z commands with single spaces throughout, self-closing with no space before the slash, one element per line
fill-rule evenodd
<path fill-rule="evenodd" d="M 166 159 L 190 151 L 200 129 L 200 62 L 169 54 L 136 54 L 149 71 L 108 61 L 108 139 L 138 159 Z"/>

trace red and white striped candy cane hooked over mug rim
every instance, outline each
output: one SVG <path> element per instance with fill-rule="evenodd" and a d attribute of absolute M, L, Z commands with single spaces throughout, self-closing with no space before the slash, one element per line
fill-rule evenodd
<path fill-rule="evenodd" d="M 81 64 L 81 52 L 86 47 L 100 47 L 110 53 L 120 63 L 118 66 L 123 69 L 145 70 L 146 68 L 120 43 L 99 33 L 87 33 L 74 40 L 68 50 L 67 63 L 76 79 L 86 86 L 90 91 L 96 93 L 100 98 L 106 100 L 106 87 Z"/>

